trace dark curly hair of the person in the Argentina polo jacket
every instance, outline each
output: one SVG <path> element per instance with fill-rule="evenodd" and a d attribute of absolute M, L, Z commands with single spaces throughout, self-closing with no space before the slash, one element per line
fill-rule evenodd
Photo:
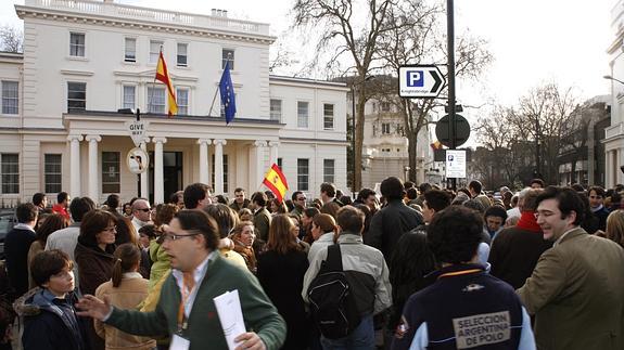
<path fill-rule="evenodd" d="M 483 220 L 462 206 L 450 206 L 433 216 L 426 239 L 438 262 L 472 260 L 482 241 Z"/>

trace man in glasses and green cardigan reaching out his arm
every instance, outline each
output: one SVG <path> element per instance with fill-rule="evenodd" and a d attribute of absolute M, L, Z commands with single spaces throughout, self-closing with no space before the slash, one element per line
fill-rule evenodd
<path fill-rule="evenodd" d="M 252 330 L 235 338 L 237 349 L 279 349 L 285 339 L 283 319 L 247 270 L 219 256 L 218 242 L 217 225 L 204 211 L 178 212 L 165 233 L 163 248 L 174 270 L 156 310 L 119 310 L 106 298 L 87 295 L 78 314 L 135 335 L 169 335 L 188 349 L 228 349 L 213 299 L 238 289 L 245 328 Z"/>

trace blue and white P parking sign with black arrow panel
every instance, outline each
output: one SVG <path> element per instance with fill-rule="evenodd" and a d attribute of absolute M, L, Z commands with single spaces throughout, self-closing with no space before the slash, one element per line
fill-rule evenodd
<path fill-rule="evenodd" d="M 408 99 L 435 98 L 446 85 L 436 65 L 408 65 L 398 68 L 398 95 Z"/>

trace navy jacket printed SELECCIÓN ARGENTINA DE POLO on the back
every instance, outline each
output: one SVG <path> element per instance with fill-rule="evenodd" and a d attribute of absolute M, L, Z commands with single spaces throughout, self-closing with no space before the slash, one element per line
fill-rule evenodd
<path fill-rule="evenodd" d="M 529 315 L 507 283 L 477 264 L 435 275 L 407 301 L 392 349 L 535 349 Z"/>

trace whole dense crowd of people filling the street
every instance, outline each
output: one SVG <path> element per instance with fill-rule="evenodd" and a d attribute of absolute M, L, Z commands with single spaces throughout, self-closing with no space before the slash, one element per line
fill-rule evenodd
<path fill-rule="evenodd" d="M 235 349 L 624 349 L 622 193 L 37 193 L 5 237 L 0 347 L 232 349 L 214 299 L 237 290 Z"/>

